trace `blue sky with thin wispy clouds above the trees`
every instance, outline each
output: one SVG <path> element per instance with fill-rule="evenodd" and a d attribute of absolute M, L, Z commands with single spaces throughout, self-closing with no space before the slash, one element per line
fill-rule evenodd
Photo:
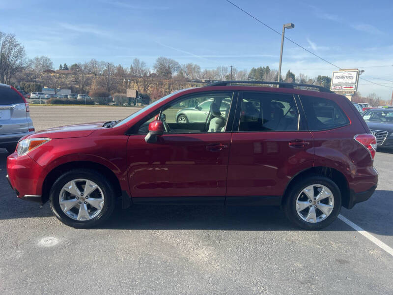
<path fill-rule="evenodd" d="M 390 99 L 393 90 L 391 0 L 233 0 L 285 36 L 342 68 L 364 69 L 362 94 Z M 95 58 L 149 67 L 159 56 L 202 68 L 278 68 L 281 36 L 225 0 L 0 0 L 0 30 L 14 33 L 29 58 L 60 63 Z M 335 68 L 285 42 L 282 72 L 331 76 Z"/>

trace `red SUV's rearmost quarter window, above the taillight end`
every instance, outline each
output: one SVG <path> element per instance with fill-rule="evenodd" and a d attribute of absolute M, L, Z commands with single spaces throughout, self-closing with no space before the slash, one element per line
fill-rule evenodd
<path fill-rule="evenodd" d="M 302 96 L 300 99 L 309 130 L 328 130 L 349 124 L 348 117 L 333 100 L 312 96 Z"/>

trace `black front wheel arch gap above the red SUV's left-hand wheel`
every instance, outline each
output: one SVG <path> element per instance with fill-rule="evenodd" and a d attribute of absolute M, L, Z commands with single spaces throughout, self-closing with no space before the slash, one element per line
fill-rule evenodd
<path fill-rule="evenodd" d="M 108 180 L 112 183 L 113 189 L 116 194 L 116 198 L 121 197 L 122 192 L 121 192 L 121 186 L 118 178 L 116 175 L 113 173 L 111 169 L 108 167 L 96 163 L 96 162 L 89 162 L 89 161 L 73 161 L 73 162 L 67 162 L 64 164 L 61 164 L 59 166 L 56 166 L 48 175 L 45 177 L 45 180 L 42 185 L 42 203 L 46 203 L 49 200 L 49 194 L 51 191 L 51 187 L 55 183 L 58 177 L 60 177 L 62 174 L 70 171 L 70 170 L 75 170 L 75 169 L 91 169 L 94 171 L 99 172 L 100 174 L 104 175 L 105 177 L 108 177 Z"/>

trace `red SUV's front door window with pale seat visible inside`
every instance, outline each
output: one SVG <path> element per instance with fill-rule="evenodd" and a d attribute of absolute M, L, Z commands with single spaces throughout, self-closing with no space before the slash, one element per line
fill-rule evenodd
<path fill-rule="evenodd" d="M 147 133 L 155 119 L 164 122 L 164 133 L 224 132 L 232 98 L 232 91 L 187 95 L 142 120 L 133 133 Z"/>

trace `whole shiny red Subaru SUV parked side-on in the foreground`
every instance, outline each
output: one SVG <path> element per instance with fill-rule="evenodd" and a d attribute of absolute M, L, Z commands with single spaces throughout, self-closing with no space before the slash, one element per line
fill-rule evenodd
<path fill-rule="evenodd" d="M 50 201 L 75 228 L 105 221 L 120 199 L 123 208 L 281 206 L 298 226 L 321 229 L 374 192 L 376 139 L 347 98 L 303 86 L 218 82 L 119 121 L 43 130 L 19 141 L 7 177 L 19 198 Z M 203 120 L 176 120 L 202 102 Z"/>

